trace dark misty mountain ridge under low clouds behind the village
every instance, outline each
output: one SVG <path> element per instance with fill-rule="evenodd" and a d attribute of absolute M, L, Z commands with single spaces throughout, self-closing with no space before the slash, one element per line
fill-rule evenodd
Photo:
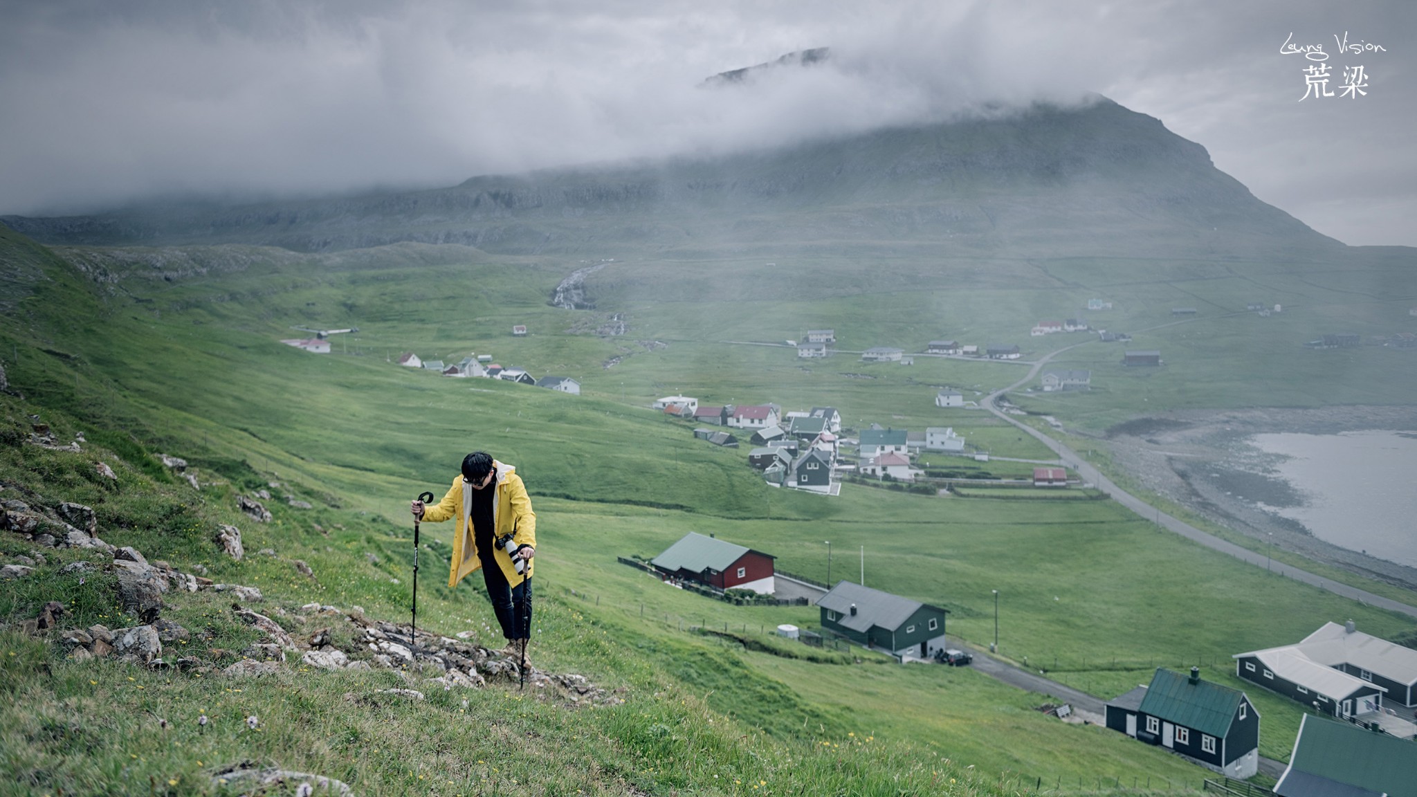
<path fill-rule="evenodd" d="M 1204 147 L 1098 98 L 723 157 L 483 176 L 344 199 L 4 217 L 47 244 L 400 241 L 563 257 L 1312 260 L 1340 245 Z"/>

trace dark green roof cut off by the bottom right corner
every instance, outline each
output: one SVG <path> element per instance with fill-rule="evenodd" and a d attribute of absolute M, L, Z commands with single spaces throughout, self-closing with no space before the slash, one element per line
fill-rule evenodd
<path fill-rule="evenodd" d="M 1304 715 L 1289 769 L 1389 797 L 1417 797 L 1417 743 L 1315 715 Z"/>

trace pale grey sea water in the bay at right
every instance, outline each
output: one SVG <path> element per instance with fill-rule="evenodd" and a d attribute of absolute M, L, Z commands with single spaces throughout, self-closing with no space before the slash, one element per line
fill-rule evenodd
<path fill-rule="evenodd" d="M 1417 431 L 1257 434 L 1250 441 L 1281 457 L 1275 475 L 1305 498 L 1302 506 L 1272 512 L 1325 542 L 1417 567 Z"/>

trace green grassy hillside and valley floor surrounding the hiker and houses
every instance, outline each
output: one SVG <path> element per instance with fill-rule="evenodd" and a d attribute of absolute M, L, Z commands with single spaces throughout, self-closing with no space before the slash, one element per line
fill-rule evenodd
<path fill-rule="evenodd" d="M 983 343 L 1019 328 L 1026 335 L 1036 316 L 1060 306 L 1060 296 L 1085 302 L 1095 285 L 903 288 L 799 303 L 626 301 L 631 333 L 602 339 L 568 330 L 602 318 L 604 305 L 597 311 L 546 305 L 567 272 L 567 264 L 550 258 L 414 244 L 334 255 L 232 247 L 65 250 L 65 258 L 85 267 L 81 271 L 13 233 L 0 228 L 0 235 L 6 247 L 0 260 L 28 252 L 26 262 L 43 269 L 27 272 L 24 285 L 33 294 L 6 313 L 0 329 L 0 357 L 13 387 L 26 396 L 3 398 L 7 423 L 18 433 L 0 450 L 7 485 L 0 498 L 18 489 L 48 506 L 94 505 L 102 526 L 112 529 L 103 535 L 109 542 L 135 545 L 149 557 L 203 564 L 218 580 L 259 586 L 268 601 L 288 611 L 317 600 L 341 608 L 359 604 L 370 615 L 398 620 L 410 596 L 407 499 L 422 489 L 441 492 L 462 454 L 486 448 L 517 465 L 536 501 L 543 542 L 537 664 L 626 689 L 623 706 L 567 713 L 489 688 L 469 696 L 468 712 L 478 722 L 465 723 L 456 693 L 429 698 L 421 708 L 380 703 L 366 710 L 359 703 L 363 689 L 400 684 L 387 671 L 324 675 L 288 667 L 272 682 L 242 686 L 238 698 L 215 679 L 173 676 L 167 684 L 167 676 L 143 675 L 146 681 L 139 681 L 109 662 L 65 662 L 52 640 L 13 635 L 7 645 L 16 655 L 7 657 L 14 661 L 6 672 L 20 698 L 0 728 L 16 740 L 6 745 L 16 750 L 7 767 L 28 773 L 35 788 L 48 787 L 34 780 L 41 771 L 58 773 L 54 784 L 78 790 L 102 790 L 132 773 L 154 783 L 176 777 L 181 788 L 196 788 L 198 774 L 213 771 L 213 760 L 224 766 L 242 757 L 344 776 L 373 793 L 417 787 L 418 776 L 425 776 L 422 783 L 452 780 L 455 788 L 446 793 L 510 790 L 504 783 L 492 786 L 507 773 L 519 779 L 516 786 L 567 793 L 752 793 L 754 783 L 760 790 L 811 794 L 884 793 L 887 786 L 891 793 L 897 787 L 988 793 L 1000 790 L 1005 777 L 1013 779 L 1010 790 L 1029 786 L 1026 780 L 1033 787 L 1051 780 L 1063 791 L 1100 790 L 1104 777 L 1114 784 L 1151 779 L 1165 788 L 1199 783 L 1202 770 L 1179 759 L 1095 728 L 1058 723 L 1030 710 L 1043 698 L 973 671 L 900 668 L 870 658 L 812 662 L 690 632 L 690 627 L 726 625 L 761 637 L 779 623 L 813 627 L 816 615 L 805 607 L 708 601 L 616 562 L 652 556 L 689 530 L 768 550 L 779 569 L 819 580 L 828 579 L 823 540 L 832 540 L 833 580 L 859 574 L 856 556 L 864 547 L 867 584 L 949 608 L 949 632 L 976 645 L 992 641 L 992 590 L 999 590 L 1000 651 L 1102 696 L 1131 688 L 1155 665 L 1199 662 L 1207 678 L 1224 678 L 1230 654 L 1292 640 L 1328 620 L 1353 617 L 1376 634 L 1411 627 L 1370 607 L 1267 579 L 1156 532 L 1108 502 L 932 498 L 856 485 L 823 499 L 772 489 L 747 467 L 745 451 L 694 441 L 690 424 L 646 407 L 676 391 L 706 403 L 832 404 L 849 425 L 954 425 L 995 455 L 1049 457 L 1032 438 L 978 411 L 944 411 L 931 403 L 937 386 L 976 397 L 971 394 L 1019 379 L 1023 366 L 920 357 L 904 367 L 862 364 L 847 355 L 799 363 L 792 349 L 726 340 L 774 342 L 798 338 L 809 326 L 835 326 L 842 347 L 920 349 L 941 336 L 978 336 Z M 1203 284 L 1183 289 L 1199 292 Z M 660 289 L 656 285 L 670 281 L 646 282 L 645 289 Z M 1282 285 L 1275 277 L 1275 289 Z M 1108 296 L 1118 302 L 1112 312 L 1131 329 L 1142 329 L 1170 322 L 1179 289 L 1169 282 L 1114 285 Z M 1272 346 L 1274 362 L 1260 367 L 1274 370 L 1260 373 L 1274 379 L 1289 379 L 1301 357 L 1331 355 L 1291 352 L 1284 340 L 1316 319 L 1342 318 L 1339 292 L 1289 289 L 1305 291 L 1315 303 L 1306 311 L 1295 299 L 1292 312 L 1270 319 L 1217 312 L 1151 333 L 1169 363 L 1152 374 L 1108 366 L 1105 352 L 1118 359 L 1119 352 L 1100 343 L 1074 349 L 1068 356 L 1081 357 L 1074 362 L 1093 363 L 1098 390 L 1049 411 L 1102 427 L 1132 417 L 1152 397 L 1166 406 L 1226 406 L 1268 396 L 1251 387 L 1253 362 L 1233 353 L 1203 355 L 1227 336 L 1250 336 Z M 1229 301 L 1221 288 L 1213 296 L 1216 306 Z M 1393 322 L 1400 321 L 1396 298 L 1349 301 L 1373 318 L 1391 311 Z M 531 335 L 510 338 L 513 323 L 527 323 Z M 360 332 L 336 336 L 334 353 L 316 356 L 278 342 L 305 335 L 292 325 Z M 1051 350 L 1044 343 L 1057 338 L 1063 336 L 1026 349 Z M 1135 345 L 1151 340 L 1139 335 Z M 394 364 L 391 359 L 404 350 L 453 360 L 487 352 L 506 366 L 574 376 L 585 393 L 442 379 Z M 1094 350 L 1101 352 L 1098 359 L 1085 359 Z M 1401 356 L 1382 349 L 1345 352 L 1343 367 L 1369 376 L 1345 379 L 1335 390 L 1350 400 L 1404 400 L 1400 394 L 1413 376 L 1383 359 L 1393 355 Z M 605 367 L 611 360 L 615 364 Z M 1301 400 L 1335 397 L 1315 393 Z M 60 430 L 61 442 L 82 428 L 96 451 L 64 454 L 17 444 L 30 414 Z M 156 452 L 187 458 L 204 489 L 190 492 L 153 458 Z M 92 475 L 94 457 L 113 464 L 122 491 Z M 272 481 L 313 508 L 273 506 L 276 518 L 268 526 L 244 520 L 235 494 Z M 210 542 L 218 522 L 237 522 L 251 535 L 249 550 L 271 547 L 276 556 L 251 556 L 241 564 L 222 560 Z M 490 611 L 476 590 L 470 584 L 456 594 L 446 590 L 439 567 L 429 563 L 446 556 L 448 535 L 445 526 L 425 528 L 431 542 L 419 581 L 421 624 L 444 634 L 485 632 Z M 6 545 L 7 556 L 30 550 L 9 537 Z M 28 618 L 45 600 L 65 600 L 75 606 L 79 627 L 108 614 L 102 596 L 111 587 L 102 579 L 81 586 L 77 576 L 58 577 L 71 559 L 55 554 L 44 572 L 52 577 L 0 586 L 6 601 L 0 608 Z M 293 572 L 295 559 L 309 563 L 315 583 Z M 1185 608 L 1202 596 L 1206 611 Z M 198 593 L 173 617 L 210 621 L 211 648 L 239 650 L 249 644 L 249 630 L 222 614 L 228 608 Z M 207 655 L 213 665 L 231 661 Z M 135 681 L 126 681 L 130 676 Z M 344 703 L 346 692 L 354 693 L 356 708 Z M 160 702 L 153 702 L 156 695 Z M 72 713 L 75 706 L 116 705 L 115 716 L 170 713 L 190 720 L 201 708 L 215 716 L 217 701 L 231 718 L 259 709 L 275 712 L 273 722 L 283 725 L 269 736 L 221 737 L 179 725 L 183 735 L 176 740 L 201 750 L 186 754 L 137 719 L 84 720 L 78 730 L 35 719 Z M 1287 757 L 1298 708 L 1280 701 L 1260 705 L 1264 754 Z M 302 719 L 312 710 L 309 720 Z M 309 722 L 319 733 L 307 749 L 302 723 Z M 497 730 L 490 736 L 468 729 L 492 723 Z M 20 745 L 21 739 L 48 740 Z M 487 739 L 499 742 L 502 757 L 485 747 Z M 98 774 L 79 773 L 82 759 L 64 763 L 79 743 L 109 750 L 94 757 Z M 351 762 L 351 749 L 366 754 Z M 125 756 L 137 757 L 125 762 Z M 470 760 L 482 762 L 482 769 Z M 908 786 L 897 786 L 897 776 Z M 730 787 L 728 780 L 743 783 Z"/>

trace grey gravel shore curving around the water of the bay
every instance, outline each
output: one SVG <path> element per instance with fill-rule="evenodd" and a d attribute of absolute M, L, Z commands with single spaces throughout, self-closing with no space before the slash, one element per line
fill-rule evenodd
<path fill-rule="evenodd" d="M 1297 506 L 1302 496 L 1265 475 L 1274 458 L 1246 444 L 1264 433 L 1338 434 L 1417 428 L 1417 407 L 1323 407 L 1182 411 L 1149 416 L 1108 430 L 1117 465 L 1145 488 L 1207 519 L 1277 547 L 1389 584 L 1417 590 L 1417 567 L 1339 547 L 1304 525 L 1265 512 Z"/>

